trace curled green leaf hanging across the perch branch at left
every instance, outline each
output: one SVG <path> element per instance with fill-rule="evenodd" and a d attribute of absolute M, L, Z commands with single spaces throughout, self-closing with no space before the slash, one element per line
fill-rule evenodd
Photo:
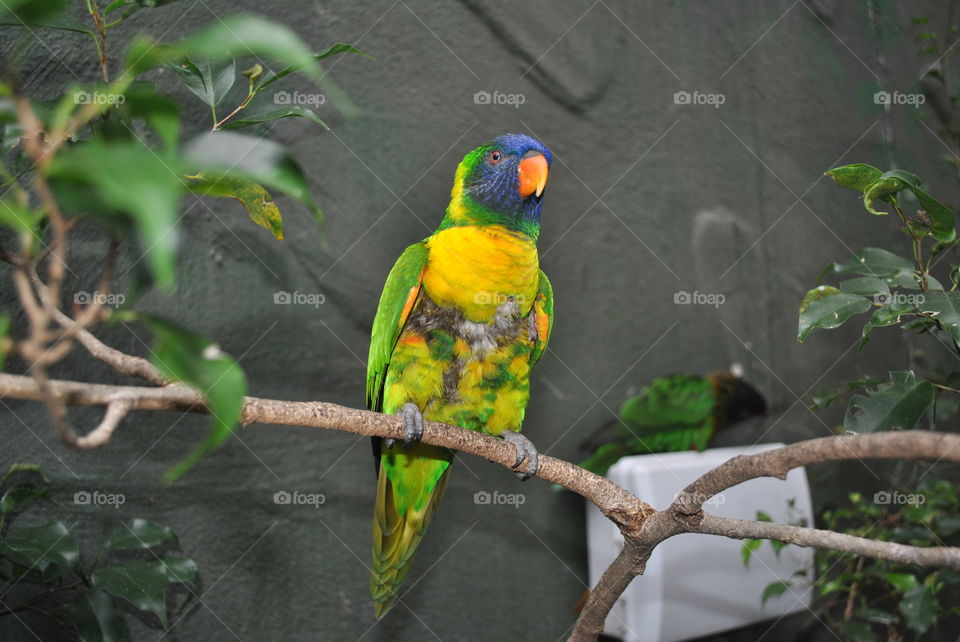
<path fill-rule="evenodd" d="M 157 337 L 153 364 L 164 376 L 196 388 L 213 415 L 206 440 L 166 474 L 173 482 L 233 434 L 243 411 L 247 379 L 243 368 L 208 339 L 158 317 L 140 318 Z"/>

